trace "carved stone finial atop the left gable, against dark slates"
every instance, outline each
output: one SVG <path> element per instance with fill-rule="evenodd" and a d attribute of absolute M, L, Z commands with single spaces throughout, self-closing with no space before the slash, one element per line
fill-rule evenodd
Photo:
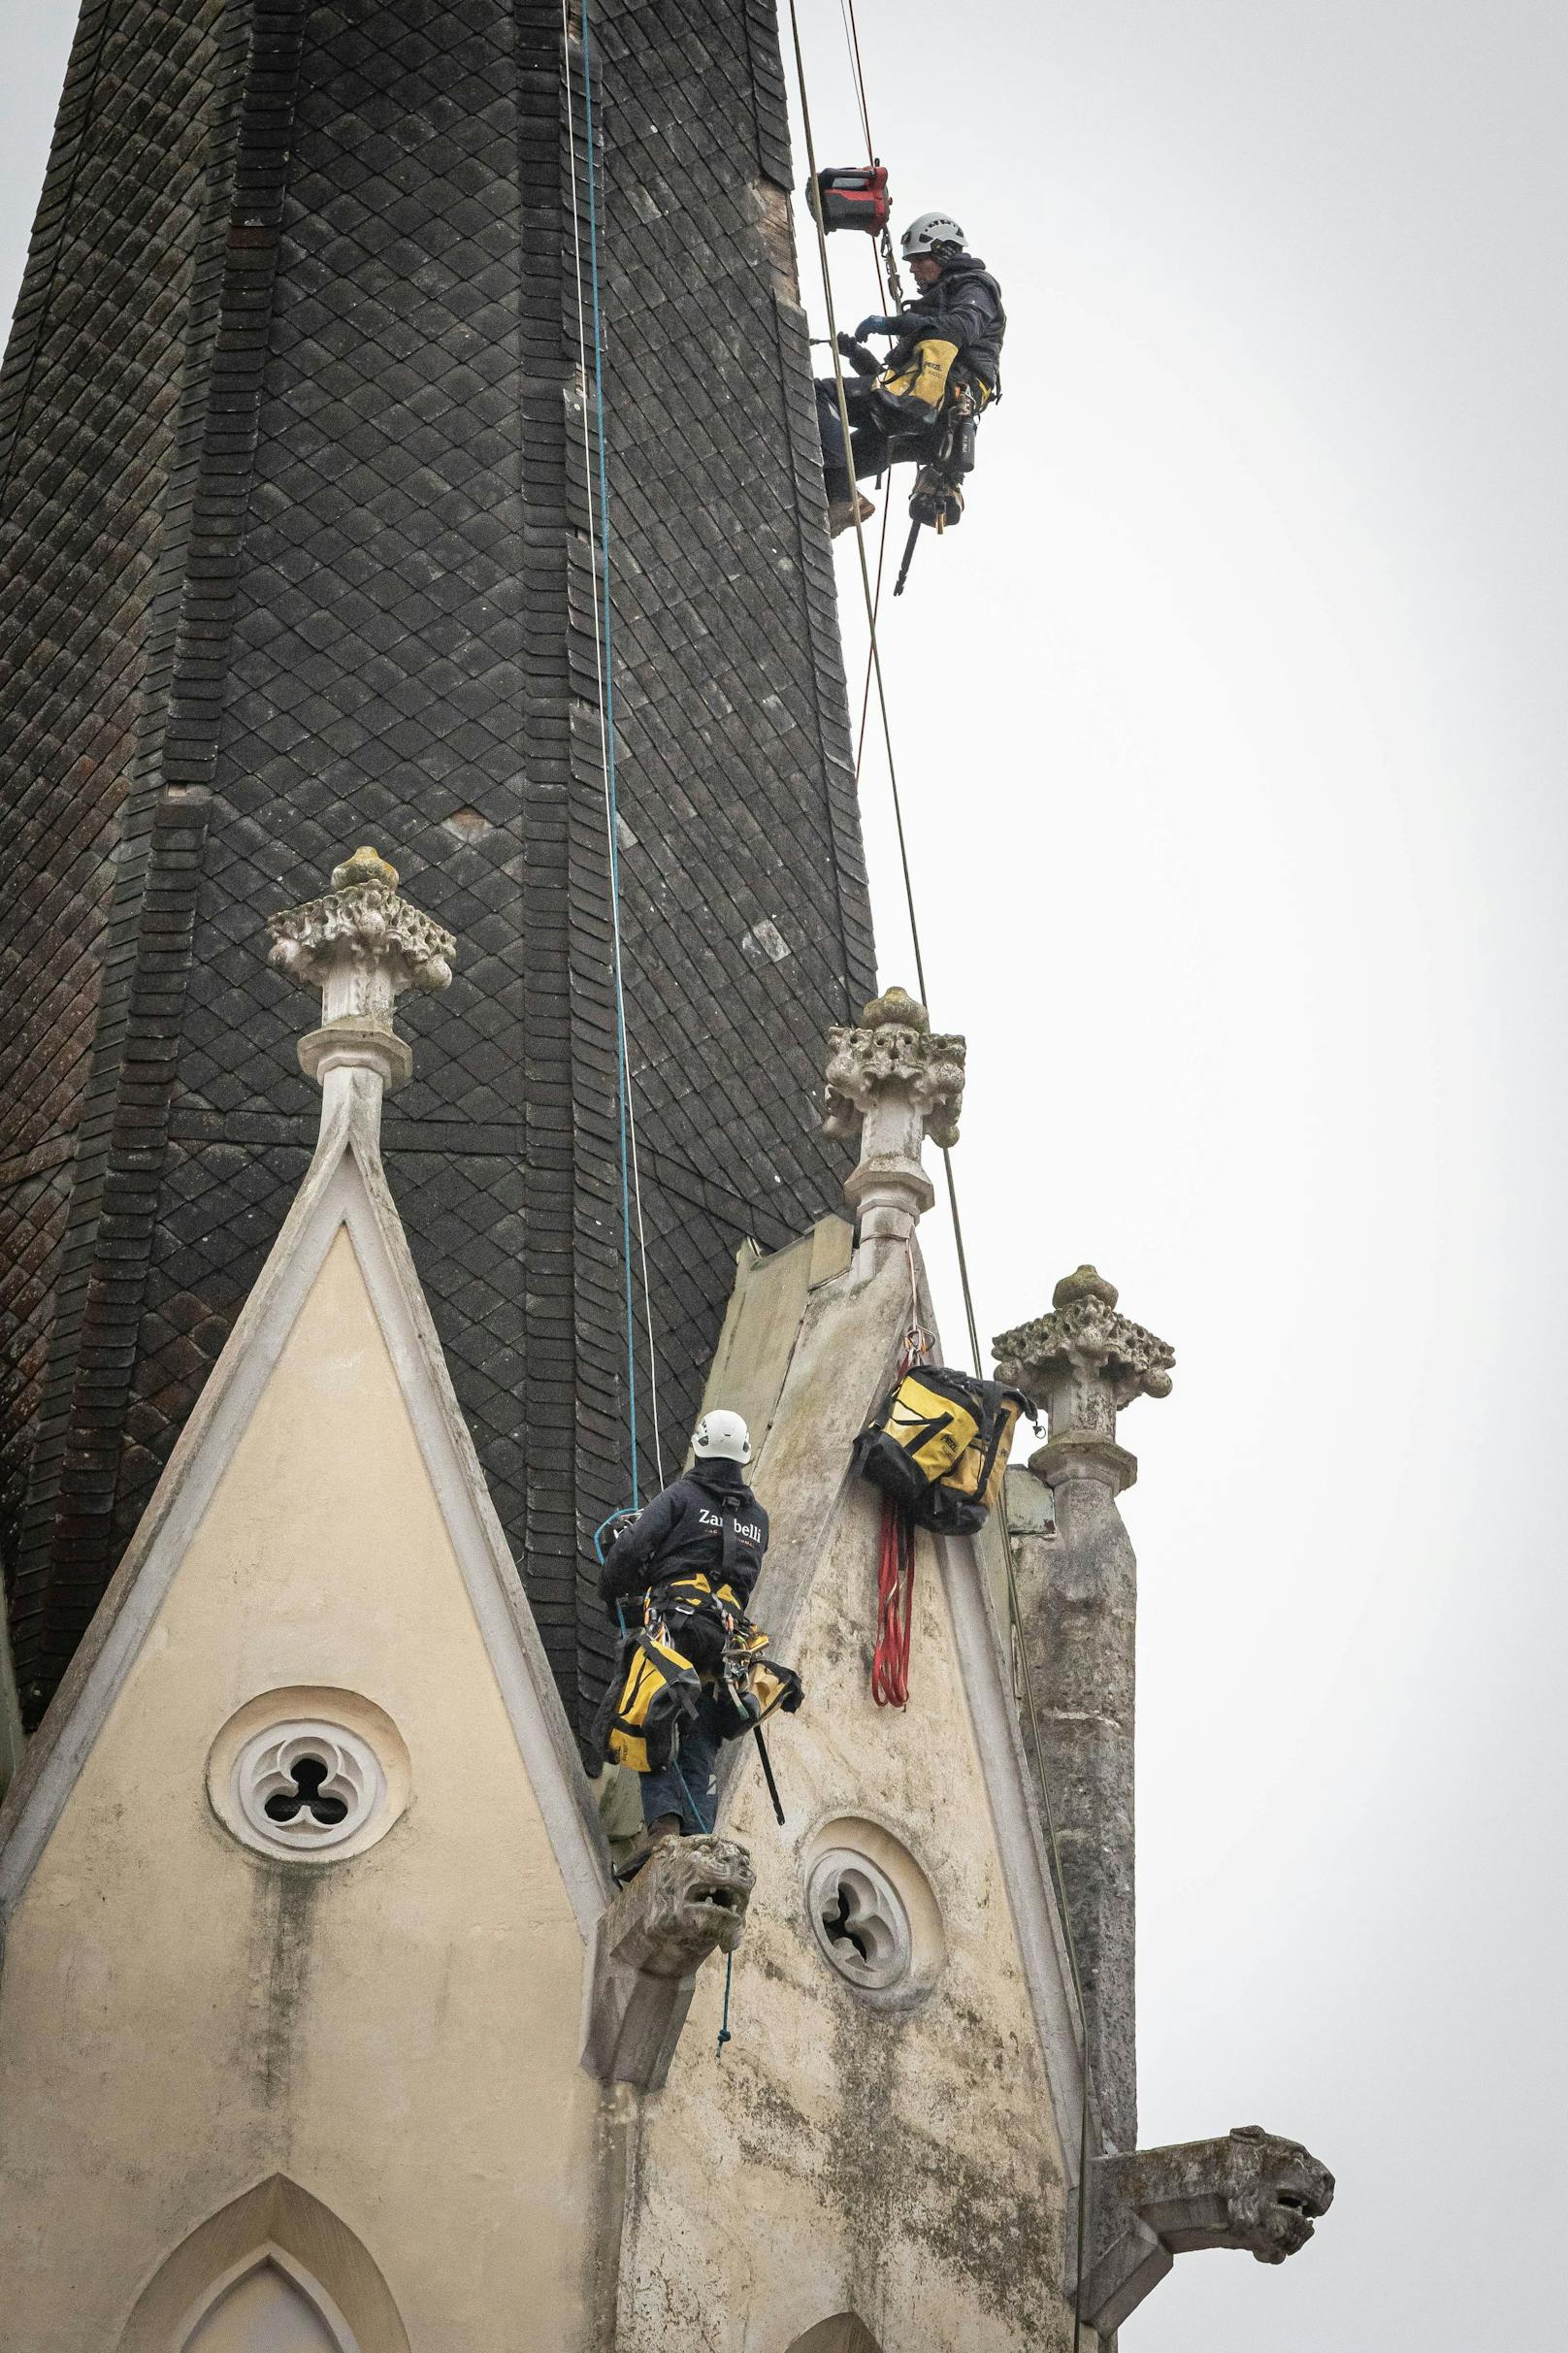
<path fill-rule="evenodd" d="M 457 941 L 398 896 L 398 868 L 356 849 L 332 889 L 271 918 L 273 969 L 320 988 L 323 1026 L 299 1040 L 299 1066 L 327 1089 L 334 1071 L 370 1071 L 400 1087 L 414 1054 L 393 1031 L 405 988 L 447 988 Z"/>

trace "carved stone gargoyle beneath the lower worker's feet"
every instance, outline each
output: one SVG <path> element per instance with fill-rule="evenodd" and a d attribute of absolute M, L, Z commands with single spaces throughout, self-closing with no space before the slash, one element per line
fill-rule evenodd
<path fill-rule="evenodd" d="M 730 1838 L 664 1838 L 605 1906 L 589 1948 L 582 2064 L 657 2092 L 709 1953 L 732 1953 L 756 1873 Z"/>

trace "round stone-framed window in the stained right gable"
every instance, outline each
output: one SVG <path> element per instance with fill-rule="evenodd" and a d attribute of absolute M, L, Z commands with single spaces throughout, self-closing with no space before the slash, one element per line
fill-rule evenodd
<path fill-rule="evenodd" d="M 859 1993 L 913 2000 L 942 1972 L 946 1941 L 932 1885 L 876 1821 L 841 1817 L 817 1831 L 805 1908 L 817 1946 Z"/>

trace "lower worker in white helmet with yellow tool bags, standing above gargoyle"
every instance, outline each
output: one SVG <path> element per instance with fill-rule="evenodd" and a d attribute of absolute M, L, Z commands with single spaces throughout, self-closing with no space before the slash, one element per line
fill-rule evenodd
<path fill-rule="evenodd" d="M 775 1706 L 793 1713 L 803 1697 L 793 1668 L 763 1664 L 768 1635 L 746 1617 L 768 1551 L 768 1513 L 742 1468 L 751 1433 L 720 1407 L 697 1424 L 692 1454 L 692 1468 L 619 1532 L 598 1579 L 624 1628 L 600 1737 L 643 1784 L 643 1838 L 617 1873 L 624 1880 L 662 1838 L 713 1828 L 723 1741 Z"/>

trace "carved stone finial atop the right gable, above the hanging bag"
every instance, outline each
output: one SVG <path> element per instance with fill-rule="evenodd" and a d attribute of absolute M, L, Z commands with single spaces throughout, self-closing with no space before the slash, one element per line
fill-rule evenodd
<path fill-rule="evenodd" d="M 963 1108 L 963 1038 L 939 1035 L 925 1007 L 904 988 L 873 998 L 855 1028 L 829 1031 L 822 1127 L 859 1132 L 859 1165 L 845 1195 L 859 1212 L 862 1252 L 871 1261 L 902 1249 L 935 1195 L 921 1144 L 958 1141 Z"/>

